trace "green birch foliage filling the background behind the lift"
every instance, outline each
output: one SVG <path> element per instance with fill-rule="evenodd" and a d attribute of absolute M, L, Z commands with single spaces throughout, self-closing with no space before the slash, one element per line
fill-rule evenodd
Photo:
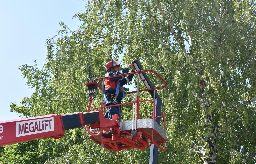
<path fill-rule="evenodd" d="M 46 63 L 41 69 L 36 61 L 34 66 L 20 67 L 35 92 L 20 107 L 12 103 L 12 110 L 22 117 L 85 112 L 88 99 L 83 84 L 88 76 L 103 77 L 104 64 L 111 59 L 123 56 L 124 64 L 138 59 L 144 69 L 155 70 L 167 82 L 158 91 L 167 131 L 166 151 L 159 152 L 159 163 L 207 163 L 214 152 L 211 145 L 216 146 L 213 163 L 255 163 L 255 2 L 216 2 L 159 1 L 173 33 L 156 1 L 88 1 L 85 10 L 75 15 L 81 21 L 76 31 L 60 22 L 59 37 L 46 40 Z M 148 76 L 155 86 L 162 85 Z M 141 99 L 148 98 L 148 93 L 141 94 Z M 129 96 L 126 99 L 131 101 Z M 99 105 L 100 95 L 93 102 Z M 152 104 L 141 104 L 141 117 L 150 117 L 151 109 Z M 124 120 L 131 119 L 130 106 L 123 112 Z M 31 163 L 149 161 L 149 148 L 120 154 L 105 151 L 84 128 L 68 130 L 58 140 L 36 142 L 34 151 L 26 148 L 34 142 L 5 146 L 0 158 L 22 162 L 30 151 Z M 23 152 L 14 152 L 17 145 Z"/>

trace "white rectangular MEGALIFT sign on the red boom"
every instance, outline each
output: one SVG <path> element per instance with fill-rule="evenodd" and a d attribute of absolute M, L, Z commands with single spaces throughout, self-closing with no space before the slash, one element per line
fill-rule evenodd
<path fill-rule="evenodd" d="M 44 133 L 54 130 L 54 119 L 43 118 L 29 121 L 16 122 L 16 137 Z"/>

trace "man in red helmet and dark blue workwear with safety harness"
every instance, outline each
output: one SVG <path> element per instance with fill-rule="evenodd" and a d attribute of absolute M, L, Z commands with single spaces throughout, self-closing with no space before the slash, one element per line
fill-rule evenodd
<path fill-rule="evenodd" d="M 112 60 L 112 61 L 107 62 L 106 65 L 105 65 L 107 73 L 104 75 L 104 77 L 109 77 L 109 76 L 128 73 L 131 68 L 132 68 L 132 70 L 130 72 L 135 71 L 135 67 L 132 64 L 129 64 L 127 66 L 127 68 L 119 71 L 120 66 L 122 66 L 122 62 L 120 62 L 120 61 Z M 122 98 L 124 97 L 123 85 L 132 81 L 133 76 L 134 76 L 134 74 L 127 75 L 126 77 L 120 76 L 120 77 L 105 79 L 104 86 L 105 86 L 106 105 L 121 104 Z M 120 106 L 110 107 L 106 111 L 106 113 L 104 115 L 104 118 L 105 119 L 112 119 L 113 114 L 118 114 L 119 121 L 121 121 L 121 108 L 120 108 Z"/>

